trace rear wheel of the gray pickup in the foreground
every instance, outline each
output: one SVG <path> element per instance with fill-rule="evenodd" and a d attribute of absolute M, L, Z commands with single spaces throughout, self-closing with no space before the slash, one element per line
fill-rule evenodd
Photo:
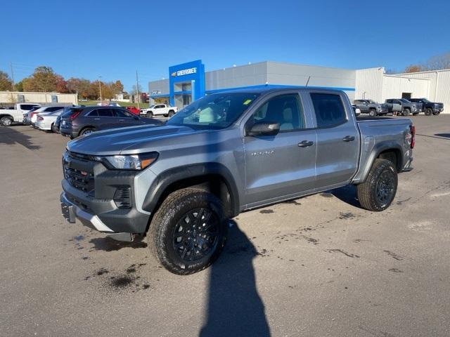
<path fill-rule="evenodd" d="M 380 188 L 383 188 L 384 180 L 390 180 L 392 190 L 385 201 L 378 197 Z M 375 159 L 369 171 L 366 181 L 357 185 L 359 204 L 368 211 L 380 212 L 387 209 L 397 193 L 397 170 L 392 161 L 388 159 Z M 390 189 L 389 189 L 390 190 Z"/>

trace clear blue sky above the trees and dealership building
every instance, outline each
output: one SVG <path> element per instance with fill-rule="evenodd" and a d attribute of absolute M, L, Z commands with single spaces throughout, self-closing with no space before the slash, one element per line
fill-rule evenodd
<path fill-rule="evenodd" d="M 403 70 L 450 51 L 450 1 L 4 1 L 0 70 L 38 65 L 64 77 L 120 79 L 129 90 L 168 77 L 274 60 Z"/>

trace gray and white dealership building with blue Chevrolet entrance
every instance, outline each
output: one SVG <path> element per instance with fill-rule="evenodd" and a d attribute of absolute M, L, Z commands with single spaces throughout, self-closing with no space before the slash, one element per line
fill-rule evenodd
<path fill-rule="evenodd" d="M 384 67 L 342 69 L 264 61 L 205 72 L 201 60 L 169 67 L 168 79 L 150 81 L 150 104 L 162 98 L 170 105 L 184 107 L 210 93 L 239 88 L 333 88 L 345 91 L 350 100 L 428 98 L 450 109 L 450 70 L 385 74 Z"/>

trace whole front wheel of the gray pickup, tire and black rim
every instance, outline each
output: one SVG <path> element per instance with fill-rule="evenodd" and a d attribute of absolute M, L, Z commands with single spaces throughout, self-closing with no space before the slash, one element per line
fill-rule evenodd
<path fill-rule="evenodd" d="M 224 213 L 221 201 L 204 190 L 186 188 L 169 194 L 150 223 L 153 255 L 174 274 L 205 269 L 226 242 Z"/>

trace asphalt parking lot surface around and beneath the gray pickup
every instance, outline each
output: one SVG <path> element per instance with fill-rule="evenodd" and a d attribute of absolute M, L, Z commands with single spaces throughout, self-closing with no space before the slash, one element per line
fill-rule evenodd
<path fill-rule="evenodd" d="M 0 335 L 449 336 L 450 116 L 413 121 L 390 209 L 345 188 L 242 213 L 217 263 L 187 277 L 145 240 L 65 222 L 68 138 L 0 128 Z"/>

